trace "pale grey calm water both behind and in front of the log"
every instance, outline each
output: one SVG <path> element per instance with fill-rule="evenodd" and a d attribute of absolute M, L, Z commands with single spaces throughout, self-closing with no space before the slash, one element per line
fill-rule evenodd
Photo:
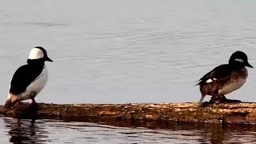
<path fill-rule="evenodd" d="M 226 63 L 234 51 L 246 52 L 256 67 L 255 4 L 254 0 L 2 1 L 0 103 L 6 100 L 14 70 L 26 63 L 34 46 L 44 46 L 54 60 L 47 63 L 50 78 L 38 94 L 38 102 L 197 102 L 200 94 L 195 81 L 214 66 Z M 229 94 L 230 98 L 255 102 L 255 78 L 256 71 L 249 69 L 246 84 Z M 189 130 L 147 130 L 13 122 L 0 118 L 4 142 L 17 135 L 10 131 L 19 125 L 19 133 L 30 127 L 24 133 L 33 133 L 42 143 L 196 143 L 202 134 L 213 134 L 209 127 L 198 130 L 196 126 Z M 126 130 L 132 134 L 123 134 Z M 225 142 L 234 135 L 245 141 L 243 135 L 254 135 L 250 130 L 250 134 L 228 131 L 221 132 Z M 203 139 L 210 142 L 210 138 Z"/>

